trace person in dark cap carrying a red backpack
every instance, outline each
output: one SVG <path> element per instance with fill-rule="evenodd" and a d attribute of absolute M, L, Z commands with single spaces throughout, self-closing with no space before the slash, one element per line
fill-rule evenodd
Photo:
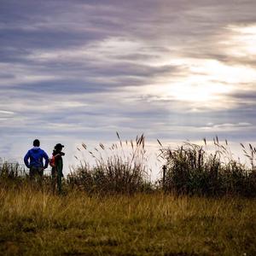
<path fill-rule="evenodd" d="M 57 185 L 59 194 L 61 194 L 61 178 L 63 177 L 62 156 L 65 155 L 65 153 L 62 152 L 62 148 L 64 148 L 64 146 L 61 143 L 58 143 L 55 145 L 52 153 L 53 157 L 55 158 L 55 166 L 53 166 L 51 169 L 53 190 L 55 192 L 55 186 Z"/>

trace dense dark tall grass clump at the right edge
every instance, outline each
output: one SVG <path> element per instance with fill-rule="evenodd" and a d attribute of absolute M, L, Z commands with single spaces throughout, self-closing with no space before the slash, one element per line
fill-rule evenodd
<path fill-rule="evenodd" d="M 159 141 L 160 143 L 160 141 Z M 164 189 L 177 194 L 189 195 L 256 195 L 256 171 L 254 155 L 256 149 L 249 145 L 249 153 L 241 144 L 249 158 L 251 168 L 234 160 L 228 142 L 218 142 L 214 138 L 215 149 L 207 153 L 207 141 L 199 146 L 183 143 L 175 149 L 165 148 L 160 143 L 160 157 L 166 165 Z"/>

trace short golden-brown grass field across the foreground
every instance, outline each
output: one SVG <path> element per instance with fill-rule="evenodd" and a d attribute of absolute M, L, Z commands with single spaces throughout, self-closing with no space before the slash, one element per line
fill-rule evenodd
<path fill-rule="evenodd" d="M 3 255 L 255 255 L 256 201 L 0 189 Z"/>

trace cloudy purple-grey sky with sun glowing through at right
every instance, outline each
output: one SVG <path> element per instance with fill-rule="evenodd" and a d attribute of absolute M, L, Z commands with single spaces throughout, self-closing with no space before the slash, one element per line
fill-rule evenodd
<path fill-rule="evenodd" d="M 255 11 L 254 0 L 0 0 L 0 157 L 22 161 L 38 138 L 49 154 L 64 144 L 69 166 L 81 143 L 114 143 L 115 131 L 144 133 L 151 149 L 255 144 Z"/>

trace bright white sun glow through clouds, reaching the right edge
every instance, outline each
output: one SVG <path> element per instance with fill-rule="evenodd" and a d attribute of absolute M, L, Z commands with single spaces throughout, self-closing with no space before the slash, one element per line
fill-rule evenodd
<path fill-rule="evenodd" d="M 170 65 L 181 70 L 157 81 L 159 95 L 193 105 L 232 108 L 237 102 L 230 94 L 254 90 L 256 72 L 250 61 L 254 63 L 256 56 L 256 24 L 226 28 L 228 32 L 216 47 L 220 54 L 227 55 L 227 61 L 178 55 L 163 55 L 160 61 L 154 61 L 153 67 Z"/>

